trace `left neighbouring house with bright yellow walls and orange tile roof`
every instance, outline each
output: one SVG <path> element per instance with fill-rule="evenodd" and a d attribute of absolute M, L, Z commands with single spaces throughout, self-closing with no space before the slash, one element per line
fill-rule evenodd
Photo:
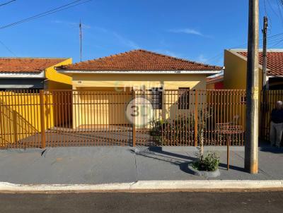
<path fill-rule="evenodd" d="M 44 130 L 60 124 L 56 117 L 62 114 L 62 98 L 40 97 L 38 90 L 71 90 L 71 78 L 54 70 L 70 63 L 71 59 L 0 58 L 0 147 L 40 133 L 42 119 Z"/>

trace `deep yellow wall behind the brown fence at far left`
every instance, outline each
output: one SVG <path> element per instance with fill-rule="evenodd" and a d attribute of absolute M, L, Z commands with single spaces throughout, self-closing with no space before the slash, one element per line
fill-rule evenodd
<path fill-rule="evenodd" d="M 45 128 L 54 126 L 53 99 L 44 96 Z M 37 93 L 0 93 L 0 147 L 41 132 L 40 95 Z"/>

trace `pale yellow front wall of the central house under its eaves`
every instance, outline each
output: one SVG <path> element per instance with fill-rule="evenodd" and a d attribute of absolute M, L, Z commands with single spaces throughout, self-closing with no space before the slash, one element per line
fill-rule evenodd
<path fill-rule="evenodd" d="M 84 128 L 90 126 L 90 124 L 127 124 L 128 121 L 127 118 L 125 118 L 125 108 L 127 107 L 127 103 L 132 99 L 132 95 L 128 92 L 129 88 L 141 90 L 142 88 L 151 89 L 152 87 L 163 86 L 164 90 L 178 90 L 179 87 L 190 87 L 190 90 L 204 90 L 206 87 L 205 79 L 207 76 L 185 74 L 76 74 L 72 77 L 74 90 L 82 91 L 95 89 L 104 91 L 108 89 L 110 91 L 106 92 L 105 95 L 98 95 L 103 92 L 97 92 L 97 95 L 91 92 L 93 94 L 92 97 L 91 95 L 88 96 L 81 92 L 81 95 L 75 95 L 75 97 L 73 97 L 73 102 L 76 106 L 73 108 L 73 127 Z M 123 90 L 123 88 L 125 88 L 125 90 Z M 123 91 L 126 91 L 124 95 L 120 95 Z M 111 96 L 110 94 L 113 95 Z M 98 99 L 101 98 L 103 101 L 98 104 Z M 190 102 L 192 103 L 194 101 L 194 97 L 190 97 Z M 120 104 L 114 104 L 115 102 L 120 102 Z M 172 104 L 166 104 L 166 106 L 163 104 L 162 112 L 161 110 L 155 110 L 155 114 L 162 113 L 161 118 L 163 117 L 163 119 L 175 118 L 178 116 L 176 111 L 181 114 L 185 114 L 187 111 L 176 109 L 176 107 L 178 108 L 178 105 L 176 104 L 176 102 L 178 102 L 177 92 L 172 95 L 163 95 L 163 102 L 172 102 Z M 88 118 L 86 118 L 86 115 L 88 115 Z M 116 117 L 113 117 L 113 115 Z"/>

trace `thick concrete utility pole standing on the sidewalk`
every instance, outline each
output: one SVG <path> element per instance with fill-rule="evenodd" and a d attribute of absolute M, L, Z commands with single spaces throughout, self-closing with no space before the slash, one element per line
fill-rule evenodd
<path fill-rule="evenodd" d="M 258 0 L 249 0 L 245 169 L 258 173 Z"/>

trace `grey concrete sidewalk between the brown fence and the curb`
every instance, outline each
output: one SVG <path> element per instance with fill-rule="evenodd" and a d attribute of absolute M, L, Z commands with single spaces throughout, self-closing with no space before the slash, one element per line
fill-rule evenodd
<path fill-rule="evenodd" d="M 221 176 L 210 180 L 282 180 L 283 149 L 260 147 L 259 174 L 243 171 L 243 147 L 232 147 L 226 170 L 225 147 L 206 147 L 221 156 Z M 102 184 L 137 181 L 208 180 L 193 175 L 187 164 L 195 147 L 57 147 L 1 150 L 0 182 L 21 184 Z"/>

